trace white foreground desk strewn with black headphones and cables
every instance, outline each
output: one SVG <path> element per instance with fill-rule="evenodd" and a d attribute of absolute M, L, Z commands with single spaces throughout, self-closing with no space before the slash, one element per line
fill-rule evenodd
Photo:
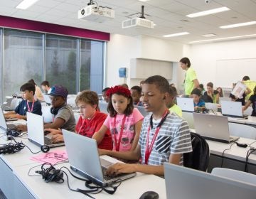
<path fill-rule="evenodd" d="M 4 142 L 3 139 L 0 139 L 0 141 Z M 27 139 L 23 139 L 23 142 L 33 151 L 40 150 L 38 146 L 32 144 Z M 65 146 L 56 149 L 65 149 Z M 26 148 L 16 154 L 2 154 L 0 156 L 0 189 L 7 198 L 88 198 L 82 193 L 75 193 L 69 190 L 66 178 L 64 183 L 58 184 L 45 183 L 38 176 L 28 176 L 28 170 L 33 166 L 39 165 L 39 163 L 29 160 L 31 156 L 34 156 L 34 154 L 31 154 Z M 102 158 L 112 162 L 117 161 L 109 156 L 102 156 Z M 61 166 L 69 168 L 68 163 L 62 163 L 55 166 L 55 168 L 60 168 Z M 31 173 L 36 170 L 40 170 L 40 166 L 34 168 Z M 71 188 L 86 189 L 83 181 L 73 178 L 70 174 L 68 176 Z M 144 173 L 137 173 L 137 176 L 134 178 L 123 181 L 114 195 L 109 195 L 103 191 L 92 196 L 95 198 L 118 199 L 139 198 L 147 190 L 154 190 L 159 193 L 159 198 L 166 198 L 164 179 Z"/>

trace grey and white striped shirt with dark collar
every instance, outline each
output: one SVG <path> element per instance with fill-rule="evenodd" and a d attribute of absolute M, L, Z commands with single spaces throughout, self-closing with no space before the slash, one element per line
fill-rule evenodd
<path fill-rule="evenodd" d="M 142 130 L 139 136 L 139 145 L 141 147 L 142 164 L 145 163 L 146 136 L 150 125 L 151 115 L 144 118 Z M 149 131 L 149 144 L 154 136 L 156 127 L 161 119 L 154 121 L 153 128 Z M 153 149 L 149 156 L 149 165 L 163 165 L 169 161 L 170 154 L 184 154 L 192 151 L 191 134 L 188 123 L 174 113 L 169 113 L 166 120 L 161 125 L 159 134 L 154 142 Z M 183 156 L 181 156 L 180 165 L 183 165 Z"/>

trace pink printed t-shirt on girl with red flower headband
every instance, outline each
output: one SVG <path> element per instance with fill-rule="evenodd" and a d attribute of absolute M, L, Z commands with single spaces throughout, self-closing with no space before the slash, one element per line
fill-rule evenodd
<path fill-rule="evenodd" d="M 113 141 L 113 151 L 116 151 L 116 143 L 114 139 L 114 134 L 116 135 L 117 141 L 119 141 L 120 129 L 122 127 L 122 119 L 124 114 L 116 115 L 116 125 L 114 126 L 114 117 L 110 117 L 110 114 L 105 119 L 104 125 L 110 129 L 110 133 Z M 126 117 L 124 122 L 124 130 L 122 133 L 122 138 L 119 146 L 119 151 L 129 151 L 132 148 L 132 141 L 134 140 L 134 124 L 144 119 L 143 115 L 139 112 L 137 108 L 133 109 L 132 114 Z"/>

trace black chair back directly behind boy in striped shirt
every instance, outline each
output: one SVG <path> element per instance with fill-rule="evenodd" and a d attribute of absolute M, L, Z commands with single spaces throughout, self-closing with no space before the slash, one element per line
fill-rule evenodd
<path fill-rule="evenodd" d="M 208 168 L 210 150 L 206 139 L 196 133 L 191 133 L 193 151 L 183 154 L 183 166 L 199 171 L 206 171 Z"/>

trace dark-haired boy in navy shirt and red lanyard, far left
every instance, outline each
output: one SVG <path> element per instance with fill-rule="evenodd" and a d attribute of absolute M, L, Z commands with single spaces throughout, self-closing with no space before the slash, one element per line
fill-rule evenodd
<path fill-rule="evenodd" d="M 14 111 L 4 114 L 4 117 L 26 119 L 27 112 L 42 115 L 41 102 L 34 99 L 36 87 L 30 83 L 26 83 L 21 86 L 20 91 L 23 100 L 18 104 Z"/>

